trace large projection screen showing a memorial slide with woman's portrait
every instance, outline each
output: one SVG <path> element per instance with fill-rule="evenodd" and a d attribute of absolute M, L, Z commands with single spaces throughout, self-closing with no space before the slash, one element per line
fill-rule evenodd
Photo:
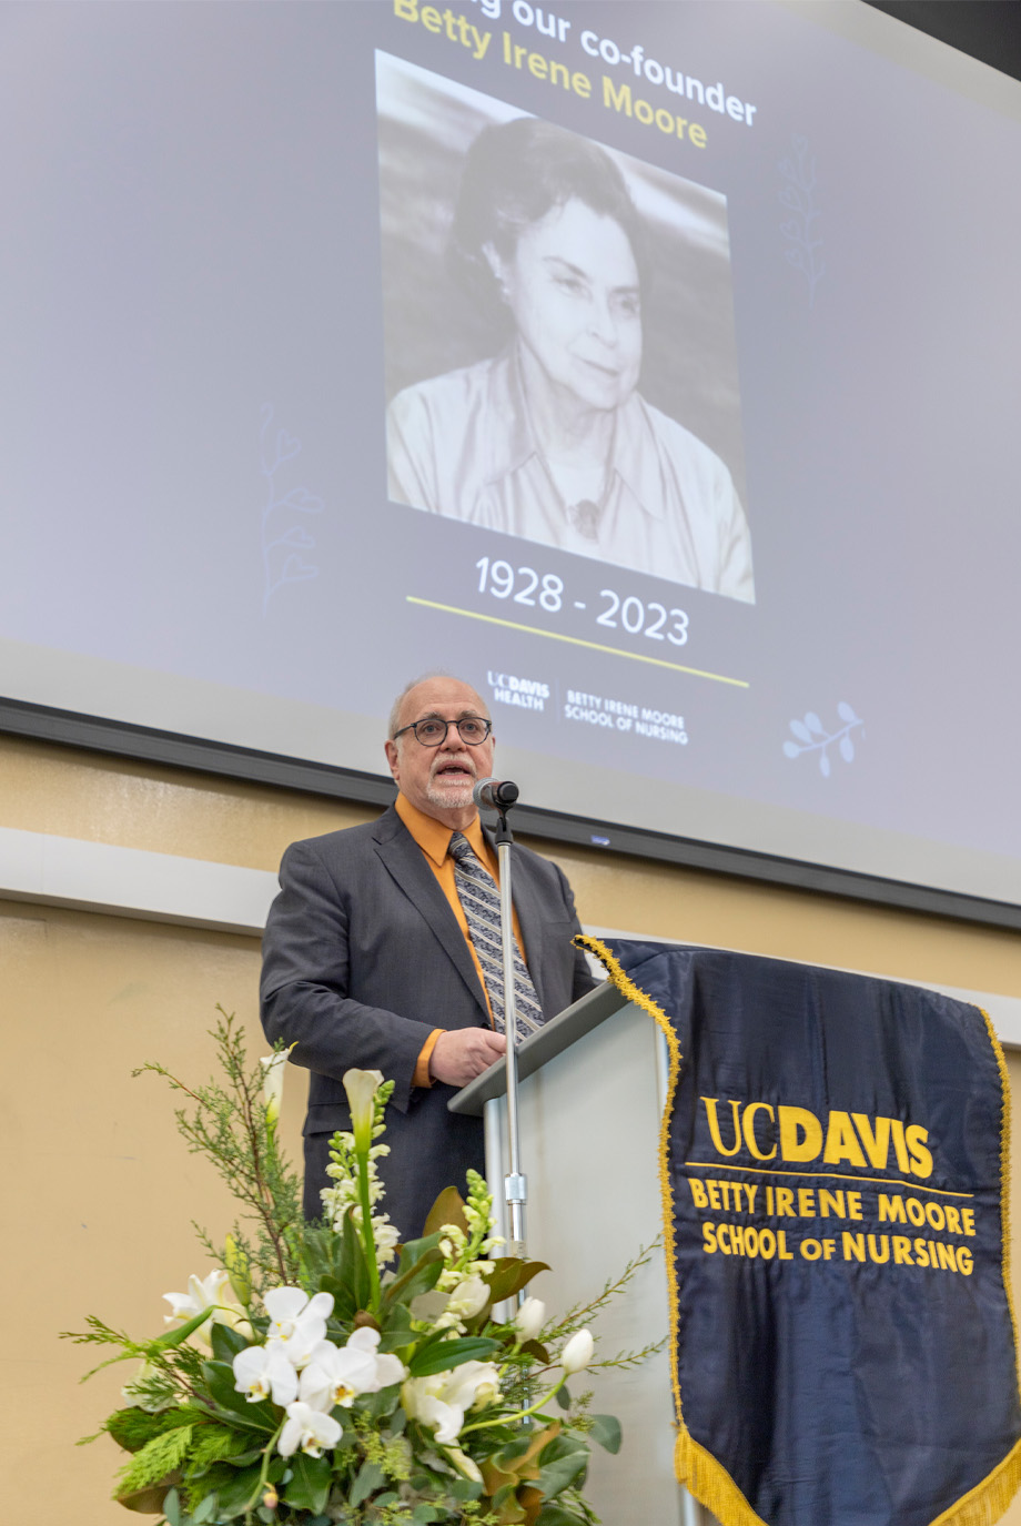
<path fill-rule="evenodd" d="M 554 835 L 1021 925 L 1021 85 L 856 0 L 2 24 L 5 725 L 371 783 L 440 668 Z"/>

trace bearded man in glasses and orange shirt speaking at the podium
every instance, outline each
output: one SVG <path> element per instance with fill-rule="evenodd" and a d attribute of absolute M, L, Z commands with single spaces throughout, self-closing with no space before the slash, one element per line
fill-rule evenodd
<path fill-rule="evenodd" d="M 385 743 L 398 786 L 378 821 L 295 842 L 262 943 L 267 1038 L 307 1067 L 305 1213 L 319 1218 L 336 1129 L 349 1129 L 342 1076 L 394 1080 L 389 1155 L 378 1163 L 401 1239 L 421 1233 L 446 1186 L 484 1169 L 482 1123 L 447 1099 L 505 1050 L 496 848 L 472 790 L 493 772 L 493 723 L 461 679 L 398 696 Z M 516 847 L 514 1000 L 519 1033 L 595 984 L 563 873 Z"/>

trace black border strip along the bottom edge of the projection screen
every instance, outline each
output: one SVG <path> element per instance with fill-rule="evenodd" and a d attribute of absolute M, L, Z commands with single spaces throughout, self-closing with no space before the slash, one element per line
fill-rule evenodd
<path fill-rule="evenodd" d="M 27 737 L 58 746 L 84 748 L 90 752 L 134 758 L 163 768 L 189 769 L 252 784 L 270 784 L 278 789 L 357 804 L 385 807 L 391 804 L 395 794 L 392 780 L 383 775 L 362 774 L 278 752 L 258 752 L 172 731 L 134 726 L 101 716 L 79 716 L 73 711 L 31 705 L 17 699 L 0 697 L 0 734 Z M 676 838 L 661 832 L 618 827 L 604 821 L 568 816 L 530 806 L 514 807 L 511 826 L 525 836 L 540 838 L 546 842 L 565 842 L 787 890 L 803 890 L 900 911 L 1021 931 L 1021 906 L 1009 902 L 984 900 L 978 896 L 963 896 L 955 891 L 932 890 L 926 885 L 856 874 L 850 870 L 774 858 L 766 853 Z"/>

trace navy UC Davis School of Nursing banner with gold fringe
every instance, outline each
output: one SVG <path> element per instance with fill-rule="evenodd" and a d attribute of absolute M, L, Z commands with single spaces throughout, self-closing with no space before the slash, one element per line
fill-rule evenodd
<path fill-rule="evenodd" d="M 1009 1099 L 984 1013 L 778 960 L 610 949 L 676 1062 L 681 1482 L 723 1526 L 997 1520 L 1021 1404 Z"/>

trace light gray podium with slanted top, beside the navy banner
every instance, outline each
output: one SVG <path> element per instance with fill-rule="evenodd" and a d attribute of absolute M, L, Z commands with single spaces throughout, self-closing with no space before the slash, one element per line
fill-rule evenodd
<path fill-rule="evenodd" d="M 517 1048 L 522 1170 L 528 1180 L 525 1245 L 545 1260 L 531 1293 L 552 1311 L 589 1303 L 639 1247 L 662 1233 L 659 1123 L 667 1048 L 653 1019 L 609 983 L 568 1007 Z M 504 1065 L 490 1067 L 449 1103 L 481 1116 L 493 1206 L 507 1238 L 507 1099 Z M 597 1360 L 639 1351 L 668 1331 L 662 1248 L 626 1293 L 592 1322 Z M 577 1373 L 592 1413 L 623 1427 L 617 1457 L 592 1448 L 586 1483 L 604 1526 L 699 1526 L 710 1520 L 676 1482 L 667 1347 L 632 1369 Z"/>

